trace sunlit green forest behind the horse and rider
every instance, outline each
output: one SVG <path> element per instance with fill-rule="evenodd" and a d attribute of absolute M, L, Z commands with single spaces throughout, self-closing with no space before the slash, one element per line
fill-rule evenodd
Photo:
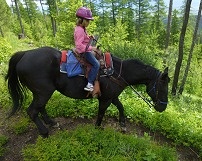
<path fill-rule="evenodd" d="M 199 21 L 197 28 L 197 13 L 194 10 L 188 14 L 187 27 L 182 28 L 187 12 L 186 1 L 180 9 L 173 9 L 171 13 L 163 0 L 11 0 L 10 3 L 7 1 L 10 6 L 4 0 L 1 1 L 4 4 L 1 6 L 0 18 L 2 37 L 10 32 L 26 37 L 35 46 L 46 45 L 58 49 L 74 47 L 75 12 L 80 6 L 88 6 L 95 17 L 88 31 L 100 37 L 99 43 L 104 50 L 121 58 L 139 58 L 160 68 L 168 66 L 173 95 L 185 90 L 201 96 L 202 21 Z M 196 28 L 198 31 L 193 39 Z M 179 41 L 182 30 L 185 33 L 184 42 Z M 183 56 L 179 58 L 179 55 Z"/>

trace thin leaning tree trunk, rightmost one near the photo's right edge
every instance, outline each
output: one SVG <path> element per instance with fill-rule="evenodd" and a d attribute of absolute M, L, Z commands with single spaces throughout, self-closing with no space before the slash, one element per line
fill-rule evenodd
<path fill-rule="evenodd" d="M 198 28 L 199 28 L 199 22 L 200 22 L 200 18 L 201 18 L 201 9 L 202 9 L 202 0 L 200 2 L 200 6 L 199 6 L 199 10 L 198 10 L 198 16 L 197 16 L 197 20 L 196 20 L 196 26 L 195 26 L 195 30 L 194 30 L 194 34 L 193 34 L 193 39 L 192 39 L 192 44 L 191 44 L 191 48 L 190 48 L 190 52 L 189 52 L 189 57 L 187 60 L 187 66 L 184 72 L 184 76 L 182 79 L 182 84 L 180 86 L 179 89 L 179 93 L 182 94 L 183 90 L 184 90 L 184 85 L 188 76 L 188 72 L 189 72 L 189 68 L 190 68 L 190 64 L 191 64 L 191 59 L 192 59 L 192 54 L 193 54 L 193 50 L 194 50 L 194 45 L 196 42 L 196 37 L 197 37 L 197 32 L 198 32 Z"/>

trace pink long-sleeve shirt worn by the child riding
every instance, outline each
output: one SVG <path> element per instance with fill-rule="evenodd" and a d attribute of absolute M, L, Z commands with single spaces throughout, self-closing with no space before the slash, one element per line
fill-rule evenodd
<path fill-rule="evenodd" d="M 86 45 L 90 41 L 90 36 L 87 31 L 82 26 L 76 26 L 74 29 L 74 42 L 76 45 L 76 50 L 79 53 L 86 52 Z M 89 46 L 87 52 L 92 51 L 92 46 Z"/>

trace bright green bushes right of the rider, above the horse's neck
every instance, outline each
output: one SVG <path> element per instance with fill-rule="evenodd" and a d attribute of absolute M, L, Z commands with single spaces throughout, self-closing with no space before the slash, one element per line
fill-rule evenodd
<path fill-rule="evenodd" d="M 127 37 L 127 26 L 118 19 L 116 27 L 109 27 L 108 32 L 102 35 L 100 42 L 104 50 L 108 50 L 122 59 L 136 58 L 147 64 L 159 65 L 157 64 L 159 57 L 156 54 L 160 51 L 154 45 L 156 44 L 154 43 L 156 41 L 155 35 L 145 36 L 142 42 L 129 42 Z"/>

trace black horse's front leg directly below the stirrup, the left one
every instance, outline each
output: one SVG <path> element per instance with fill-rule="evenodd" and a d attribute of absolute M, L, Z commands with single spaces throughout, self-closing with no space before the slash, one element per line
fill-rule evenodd
<path fill-rule="evenodd" d="M 112 100 L 99 100 L 99 109 L 98 109 L 98 116 L 97 121 L 95 123 L 95 127 L 100 127 L 102 123 L 102 119 L 104 117 L 106 109 L 111 104 Z"/>

